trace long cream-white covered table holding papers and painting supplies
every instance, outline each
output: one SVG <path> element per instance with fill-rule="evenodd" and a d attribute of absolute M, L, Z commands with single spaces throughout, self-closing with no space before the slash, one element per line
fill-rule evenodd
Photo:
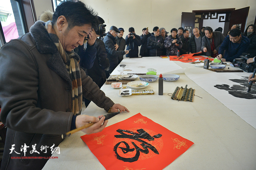
<path fill-rule="evenodd" d="M 124 59 L 120 64 L 129 60 L 133 62 L 138 59 Z M 168 59 L 166 62 L 172 61 Z M 182 68 L 199 69 L 189 63 L 174 63 Z M 202 70 L 204 71 L 208 70 Z M 155 95 L 122 97 L 118 96 L 119 89 L 103 85 L 101 89 L 108 97 L 130 110 L 130 113 L 125 112 L 109 119 L 108 126 L 140 112 L 143 116 L 195 143 L 164 169 L 256 169 L 256 129 L 190 80 L 186 74 L 179 75 L 179 81 L 164 81 L 163 96 L 158 95 L 158 81 L 149 83 L 146 88 L 153 89 Z M 167 95 L 173 93 L 177 86 L 184 87 L 186 84 L 188 88 L 195 89 L 195 95 L 203 98 L 195 96 L 193 102 L 178 102 Z M 99 116 L 105 115 L 106 112 L 90 103 L 84 114 Z M 60 154 L 52 155 L 58 156 L 58 159 L 48 160 L 44 169 L 105 169 L 82 141 L 82 135 L 83 132 L 77 132 L 66 138 L 59 145 Z"/>

